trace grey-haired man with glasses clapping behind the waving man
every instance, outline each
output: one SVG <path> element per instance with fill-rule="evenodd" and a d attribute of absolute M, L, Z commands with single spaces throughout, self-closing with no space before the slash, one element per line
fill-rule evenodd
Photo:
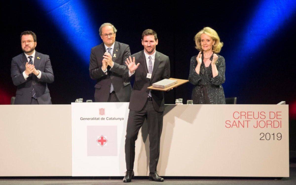
<path fill-rule="evenodd" d="M 127 44 L 115 41 L 116 28 L 104 23 L 99 28 L 103 43 L 91 48 L 89 74 L 96 80 L 95 102 L 129 102 L 131 83 L 124 83 L 125 61 L 131 55 Z"/>

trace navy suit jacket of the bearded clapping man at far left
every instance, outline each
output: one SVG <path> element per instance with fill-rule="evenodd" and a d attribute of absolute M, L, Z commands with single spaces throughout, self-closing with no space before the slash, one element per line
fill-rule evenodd
<path fill-rule="evenodd" d="M 33 73 L 25 80 L 22 73 L 26 70 L 28 59 L 24 53 L 12 58 L 11 61 L 11 78 L 17 91 L 15 95 L 15 104 L 30 104 L 32 90 L 34 87 L 39 104 L 52 104 L 47 83 L 54 81 L 54 73 L 48 55 L 35 53 L 34 66 L 36 70 L 41 71 L 41 78 L 38 79 Z"/>

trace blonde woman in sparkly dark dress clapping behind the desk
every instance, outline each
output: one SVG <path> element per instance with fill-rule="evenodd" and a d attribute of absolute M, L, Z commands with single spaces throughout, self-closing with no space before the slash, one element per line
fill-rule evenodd
<path fill-rule="evenodd" d="M 218 53 L 223 42 L 215 30 L 205 27 L 194 37 L 198 55 L 190 60 L 189 82 L 194 104 L 225 104 L 225 59 Z"/>

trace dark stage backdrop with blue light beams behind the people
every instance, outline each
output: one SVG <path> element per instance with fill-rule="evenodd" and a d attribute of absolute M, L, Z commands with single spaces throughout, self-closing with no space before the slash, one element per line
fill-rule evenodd
<path fill-rule="evenodd" d="M 290 127 L 296 119 L 294 0 L 262 1 L 4 1 L 1 4 L 0 104 L 10 104 L 16 87 L 10 77 L 12 57 L 20 54 L 20 33 L 37 35 L 38 52 L 50 56 L 55 81 L 49 84 L 53 104 L 77 98 L 94 100 L 89 77 L 91 47 L 102 42 L 98 28 L 110 22 L 116 40 L 143 49 L 141 33 L 157 32 L 157 51 L 170 57 L 171 77 L 188 79 L 189 61 L 198 51 L 194 35 L 215 29 L 224 46 L 225 96 L 238 104 L 289 104 Z M 190 83 L 166 93 L 165 103 L 191 99 Z M 291 142 L 290 142 L 291 143 Z M 295 146 L 294 146 L 295 147 Z"/>

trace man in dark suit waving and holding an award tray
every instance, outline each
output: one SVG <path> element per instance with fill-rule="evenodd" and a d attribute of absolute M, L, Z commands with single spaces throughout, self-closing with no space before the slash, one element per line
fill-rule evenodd
<path fill-rule="evenodd" d="M 150 162 L 149 180 L 162 182 L 164 179 L 157 174 L 157 163 L 160 153 L 160 136 L 163 128 L 164 96 L 163 91 L 149 90 L 152 83 L 170 77 L 169 57 L 156 51 L 157 34 L 151 29 L 142 33 L 144 51 L 133 54 L 127 59 L 127 66 L 123 79 L 129 82 L 135 78 L 131 100 L 129 104 L 128 123 L 126 128 L 126 176 L 123 182 L 131 182 L 134 176 L 133 164 L 135 159 L 135 141 L 139 129 L 147 119 Z"/>

